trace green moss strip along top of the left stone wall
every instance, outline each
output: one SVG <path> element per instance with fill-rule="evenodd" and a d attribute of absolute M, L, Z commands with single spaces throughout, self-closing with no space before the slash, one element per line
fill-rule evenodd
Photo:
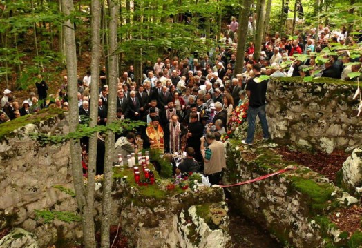
<path fill-rule="evenodd" d="M 54 118 L 55 116 L 58 116 L 61 119 L 64 118 L 64 111 L 58 108 L 47 108 L 36 114 L 28 114 L 26 116 L 16 118 L 15 120 L 2 123 L 0 124 L 0 138 L 9 135 L 14 130 L 24 127 L 27 124 L 40 123 L 41 121 Z"/>

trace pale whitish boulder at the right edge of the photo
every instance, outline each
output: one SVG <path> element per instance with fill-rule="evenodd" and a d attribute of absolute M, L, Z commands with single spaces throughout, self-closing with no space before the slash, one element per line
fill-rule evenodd
<path fill-rule="evenodd" d="M 356 148 L 343 163 L 343 181 L 351 187 L 362 186 L 362 149 Z"/>

